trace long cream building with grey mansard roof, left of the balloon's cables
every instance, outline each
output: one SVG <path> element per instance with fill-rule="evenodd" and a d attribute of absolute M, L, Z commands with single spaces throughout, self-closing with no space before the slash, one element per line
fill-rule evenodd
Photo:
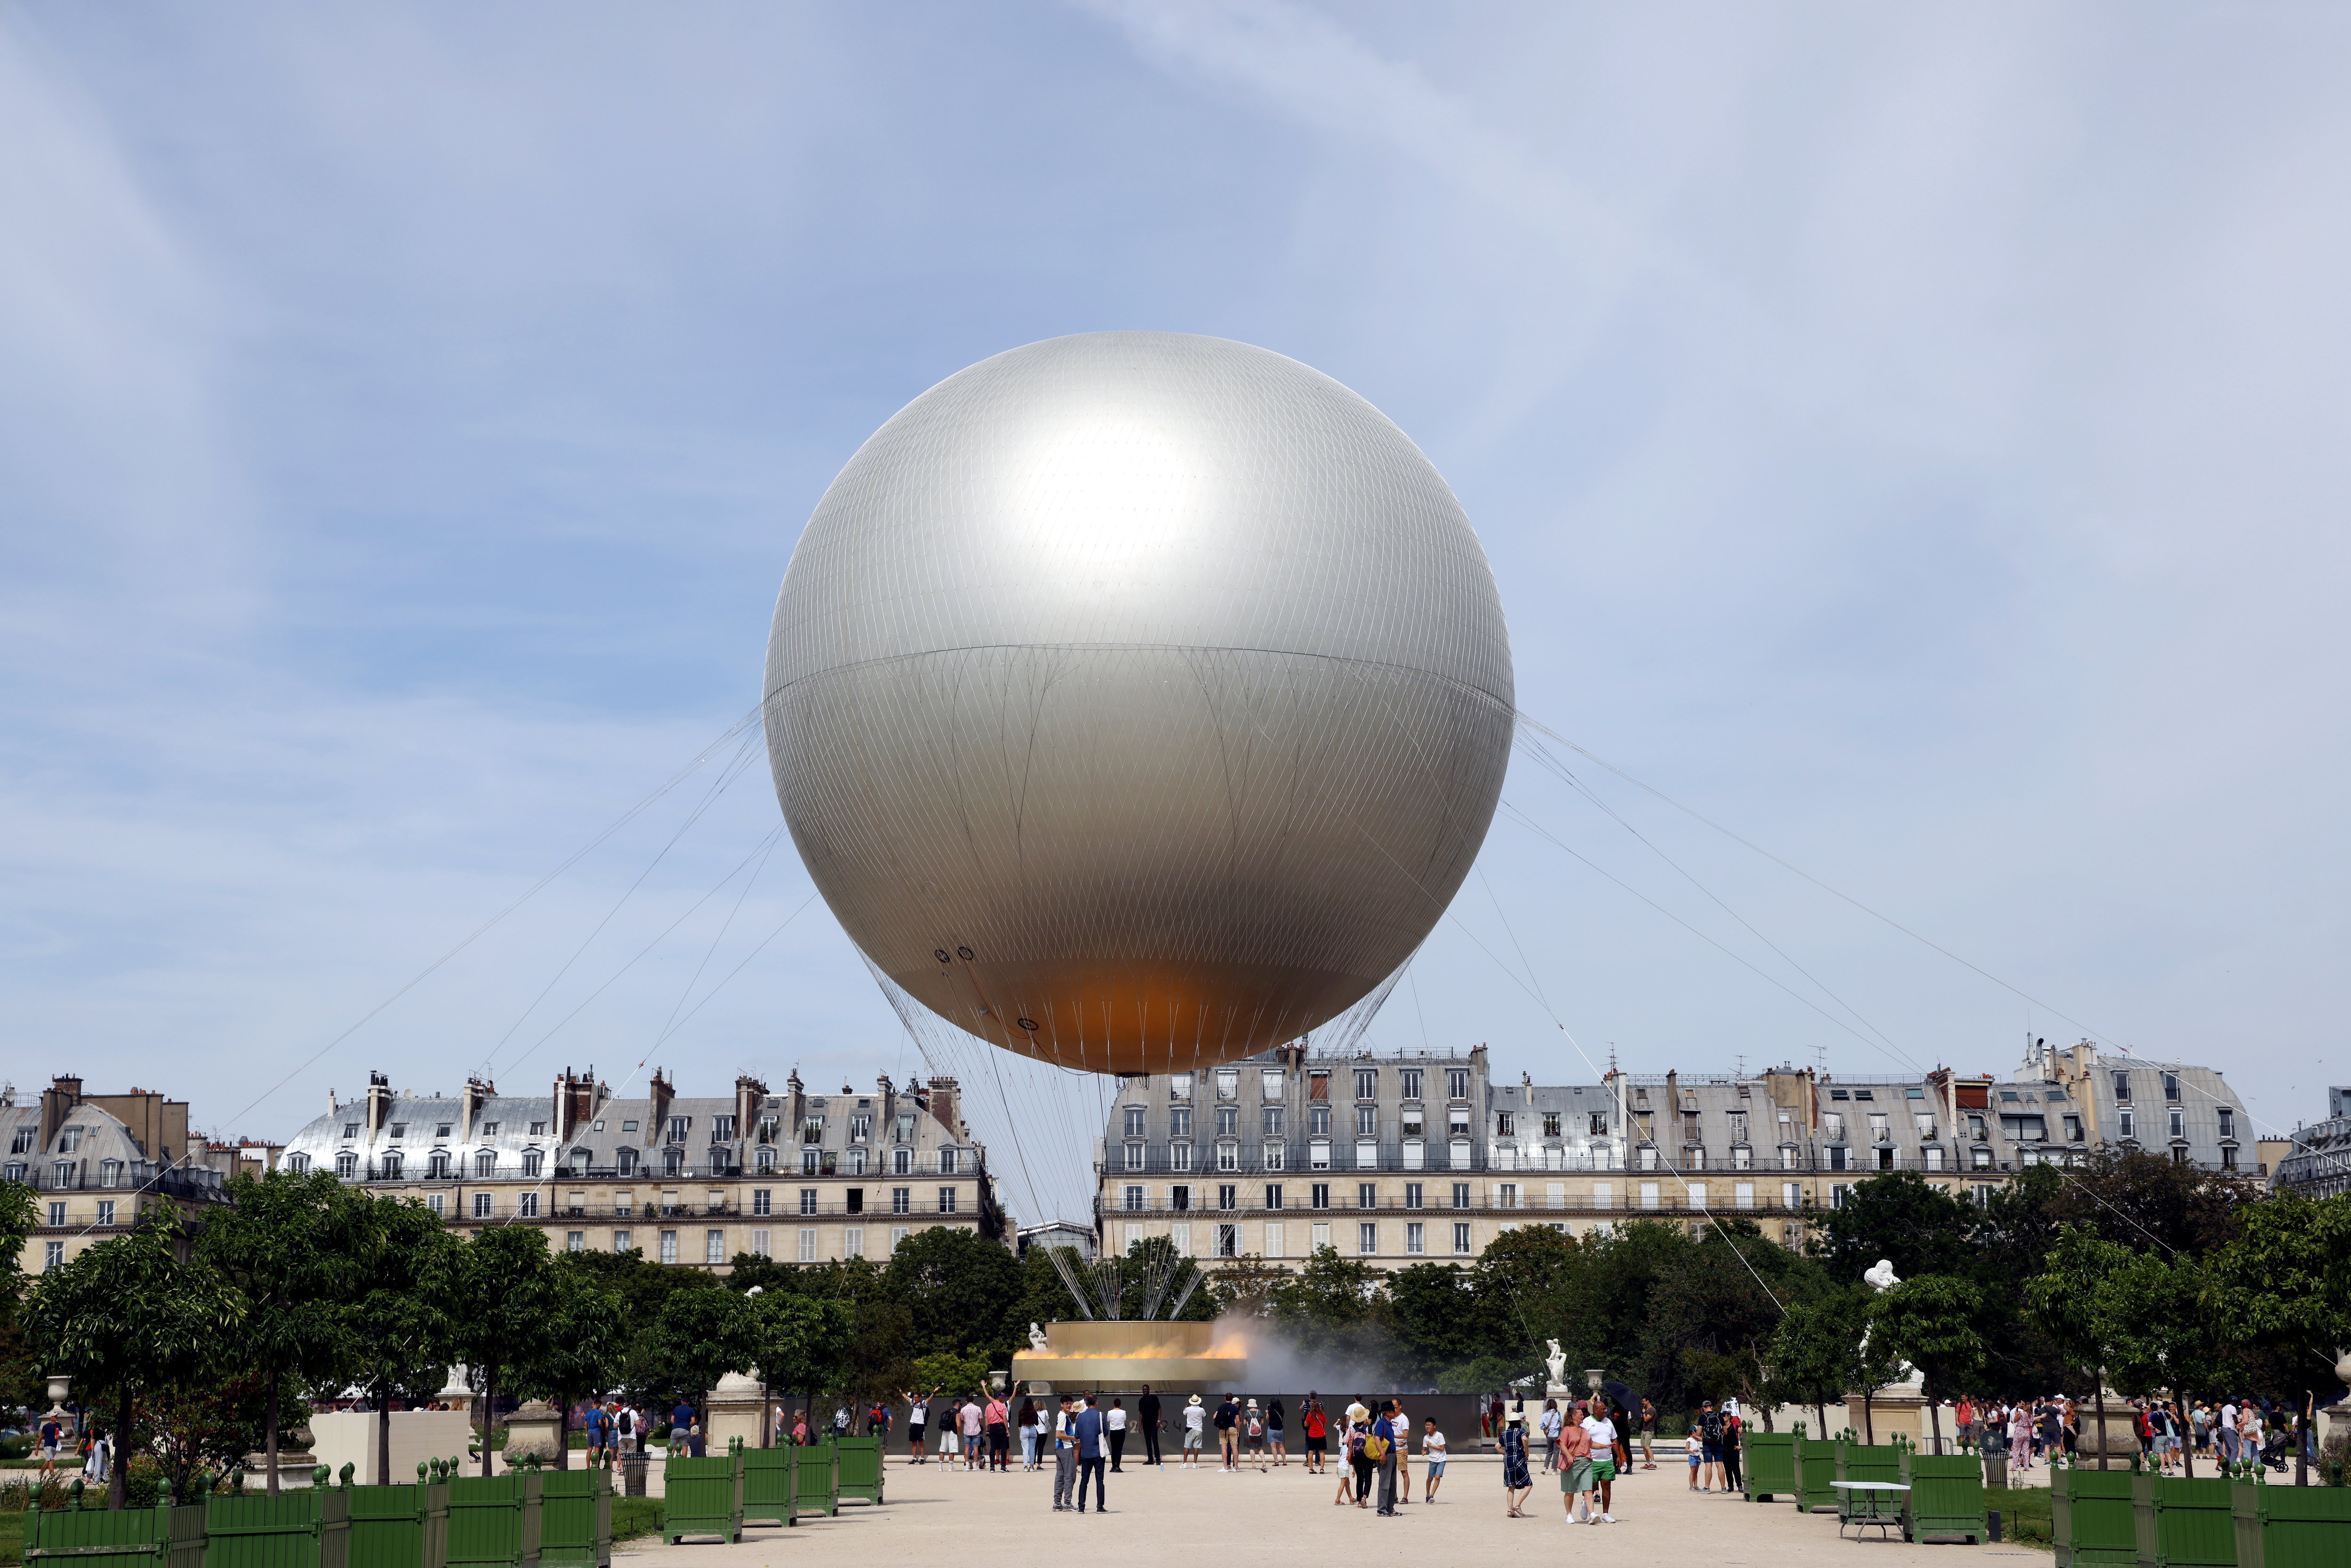
<path fill-rule="evenodd" d="M 736 1253 L 778 1262 L 877 1258 L 917 1229 L 1006 1237 L 987 1150 L 959 1119 L 957 1081 L 771 1095 L 750 1077 L 726 1098 L 677 1095 L 656 1072 L 616 1098 L 595 1070 L 550 1095 L 395 1093 L 369 1074 L 284 1145 L 284 1166 L 334 1171 L 414 1197 L 449 1225 L 536 1225 L 552 1248 L 642 1251 L 724 1272 Z"/>

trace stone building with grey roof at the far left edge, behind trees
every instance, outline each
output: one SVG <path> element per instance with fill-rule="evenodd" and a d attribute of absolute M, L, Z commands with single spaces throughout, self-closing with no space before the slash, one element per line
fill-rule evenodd
<path fill-rule="evenodd" d="M 223 1197 L 221 1173 L 188 1140 L 188 1103 L 148 1088 L 82 1093 L 59 1077 L 33 1100 L 0 1091 L 0 1178 L 33 1187 L 38 1225 L 21 1267 L 54 1269 L 132 1227 L 155 1204 L 200 1213 Z"/>

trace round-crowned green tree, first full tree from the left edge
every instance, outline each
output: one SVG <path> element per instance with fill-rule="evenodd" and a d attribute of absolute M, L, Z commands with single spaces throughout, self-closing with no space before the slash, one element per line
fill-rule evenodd
<path fill-rule="evenodd" d="M 115 1401 L 115 1479 L 108 1507 L 122 1507 L 136 1453 L 134 1401 L 197 1382 L 235 1345 L 245 1302 L 205 1262 L 181 1260 L 179 1211 L 158 1204 L 120 1237 L 42 1274 L 26 1305 L 28 1338 L 47 1371 L 71 1375 L 89 1396 Z"/>

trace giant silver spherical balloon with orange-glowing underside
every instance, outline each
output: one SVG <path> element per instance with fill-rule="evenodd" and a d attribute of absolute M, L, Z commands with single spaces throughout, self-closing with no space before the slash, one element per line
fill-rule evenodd
<path fill-rule="evenodd" d="M 875 966 L 1098 1072 L 1335 1018 L 1444 914 L 1512 738 L 1436 468 L 1223 339 L 1030 343 L 900 409 L 776 602 L 785 823 Z"/>

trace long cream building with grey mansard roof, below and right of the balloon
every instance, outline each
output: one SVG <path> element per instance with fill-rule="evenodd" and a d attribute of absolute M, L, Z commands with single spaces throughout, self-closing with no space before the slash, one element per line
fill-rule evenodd
<path fill-rule="evenodd" d="M 2189 1093 L 2203 1095 L 2191 1114 Z M 2149 1147 L 2142 1133 L 2175 1159 L 2236 1168 L 2243 1124 L 2217 1072 L 2116 1070 L 2090 1046 L 2034 1056 L 2008 1084 L 1782 1065 L 1566 1086 L 1495 1084 L 1483 1046 L 1284 1046 L 1119 1079 L 1096 1147 L 1096 1225 L 1114 1253 L 1145 1237 L 1192 1258 L 1333 1246 L 1387 1269 L 1472 1260 L 1516 1225 L 1589 1234 L 1627 1218 L 1737 1215 L 1794 1246 L 1806 1208 L 1843 1204 L 1886 1171 L 1987 1201 L 2027 1164 L 2074 1164 L 2097 1143 Z"/>

